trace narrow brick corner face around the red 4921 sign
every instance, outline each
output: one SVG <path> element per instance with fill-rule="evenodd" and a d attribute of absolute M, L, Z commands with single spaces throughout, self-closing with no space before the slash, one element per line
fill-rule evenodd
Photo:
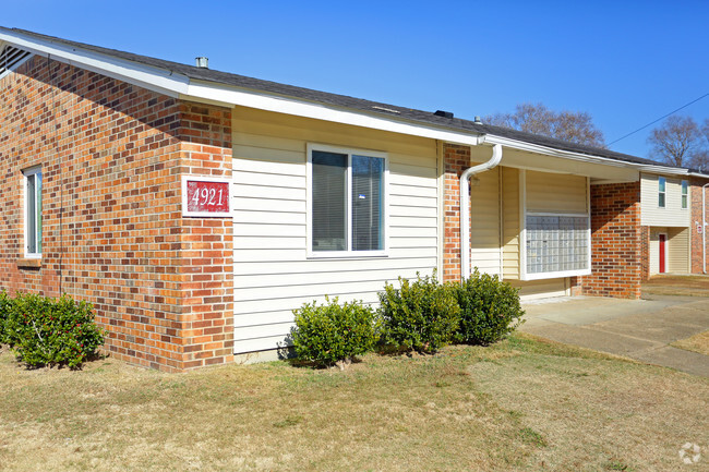
<path fill-rule="evenodd" d="M 231 177 L 231 110 L 181 101 L 180 172 Z M 231 218 L 181 218 L 180 370 L 233 359 Z"/>

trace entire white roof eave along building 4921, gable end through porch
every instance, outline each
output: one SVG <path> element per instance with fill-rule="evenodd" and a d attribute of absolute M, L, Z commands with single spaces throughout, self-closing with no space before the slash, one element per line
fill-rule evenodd
<path fill-rule="evenodd" d="M 55 58 L 72 65 L 77 65 L 177 98 L 206 101 L 229 107 L 243 106 L 470 146 L 480 145 L 483 142 L 488 144 L 502 144 L 505 147 L 548 156 L 615 167 L 630 167 L 648 172 L 669 174 L 689 173 L 688 169 L 652 166 L 569 152 L 494 134 L 484 134 L 483 132 L 476 133 L 474 131 L 456 130 L 444 125 L 436 126 L 397 117 L 383 117 L 381 113 L 368 113 L 359 109 L 336 107 L 323 102 L 307 101 L 293 97 L 240 88 L 217 82 L 191 80 L 184 74 L 166 69 L 71 47 L 48 39 L 29 37 L 2 27 L 0 27 L 0 40 L 32 51 L 38 56 Z"/>

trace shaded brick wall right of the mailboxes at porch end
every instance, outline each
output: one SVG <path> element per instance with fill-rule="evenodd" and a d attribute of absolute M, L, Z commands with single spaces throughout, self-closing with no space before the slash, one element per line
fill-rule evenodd
<path fill-rule="evenodd" d="M 637 299 L 642 278 L 640 183 L 591 185 L 591 275 L 586 295 Z"/>

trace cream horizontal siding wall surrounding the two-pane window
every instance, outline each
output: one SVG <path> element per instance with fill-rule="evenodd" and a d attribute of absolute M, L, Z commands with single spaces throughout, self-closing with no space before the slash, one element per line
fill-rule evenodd
<path fill-rule="evenodd" d="M 386 281 L 437 265 L 433 140 L 237 108 L 233 119 L 235 352 L 276 349 L 292 310 L 324 295 L 376 303 Z M 386 257 L 307 258 L 308 143 L 385 152 Z"/>

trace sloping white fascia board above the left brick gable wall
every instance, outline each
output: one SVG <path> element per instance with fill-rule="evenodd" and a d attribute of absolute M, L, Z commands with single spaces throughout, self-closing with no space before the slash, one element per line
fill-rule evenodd
<path fill-rule="evenodd" d="M 50 57 L 60 62 L 77 65 L 172 97 L 184 93 L 190 82 L 189 77 L 165 69 L 73 48 L 50 40 L 31 38 L 22 34 L 9 34 L 0 29 L 0 40 L 37 56 Z"/>

